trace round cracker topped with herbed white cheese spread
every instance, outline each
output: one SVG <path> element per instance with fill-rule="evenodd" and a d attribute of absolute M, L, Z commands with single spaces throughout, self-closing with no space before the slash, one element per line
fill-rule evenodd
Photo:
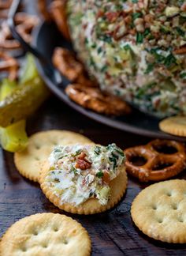
<path fill-rule="evenodd" d="M 100 213 L 126 188 L 125 155 L 115 144 L 57 146 L 40 176 L 44 194 L 71 213 Z"/>

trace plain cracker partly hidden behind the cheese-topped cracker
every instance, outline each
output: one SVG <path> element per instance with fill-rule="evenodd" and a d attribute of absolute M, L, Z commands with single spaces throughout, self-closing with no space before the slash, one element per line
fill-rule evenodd
<path fill-rule="evenodd" d="M 25 178 L 39 181 L 39 172 L 56 145 L 93 143 L 87 137 L 67 130 L 47 130 L 29 137 L 28 147 L 14 154 L 17 170 Z"/>

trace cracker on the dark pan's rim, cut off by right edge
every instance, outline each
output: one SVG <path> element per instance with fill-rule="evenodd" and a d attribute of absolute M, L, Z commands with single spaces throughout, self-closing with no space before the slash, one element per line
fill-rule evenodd
<path fill-rule="evenodd" d="M 186 137 L 186 117 L 173 116 L 168 119 L 164 119 L 159 123 L 159 128 L 167 134 Z"/>

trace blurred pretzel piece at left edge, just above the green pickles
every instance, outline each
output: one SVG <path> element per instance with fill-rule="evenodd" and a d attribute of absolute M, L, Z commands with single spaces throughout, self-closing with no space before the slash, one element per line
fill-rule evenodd
<path fill-rule="evenodd" d="M 5 52 L 0 51 L 0 72 L 9 73 L 10 80 L 17 79 L 19 63 L 13 57 L 10 57 Z"/>

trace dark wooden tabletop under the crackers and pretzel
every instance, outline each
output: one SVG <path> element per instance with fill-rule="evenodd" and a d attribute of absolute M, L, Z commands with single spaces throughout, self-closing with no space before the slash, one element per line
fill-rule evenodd
<path fill-rule="evenodd" d="M 54 97 L 28 120 L 28 134 L 50 129 L 73 130 L 102 145 L 115 142 L 122 149 L 149 141 L 147 137 L 127 134 L 91 121 Z M 183 177 L 184 174 L 178 178 Z M 186 255 L 186 245 L 149 239 L 132 224 L 131 203 L 144 187 L 129 177 L 125 198 L 110 211 L 94 216 L 65 213 L 47 200 L 39 184 L 24 179 L 17 172 L 13 154 L 0 149 L 0 235 L 24 216 L 43 212 L 62 213 L 72 216 L 87 228 L 91 236 L 92 255 Z"/>

